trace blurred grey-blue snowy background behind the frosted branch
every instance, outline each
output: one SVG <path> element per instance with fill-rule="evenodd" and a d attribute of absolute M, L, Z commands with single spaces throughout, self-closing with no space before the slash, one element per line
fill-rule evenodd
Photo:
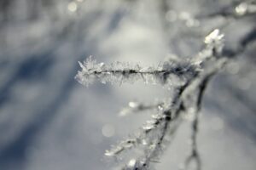
<path fill-rule="evenodd" d="M 189 23 L 188 14 L 208 14 L 231 1 L 170 1 L 167 13 L 163 2 L 0 1 L 1 170 L 113 167 L 104 151 L 148 118 L 120 118 L 120 109 L 131 99 L 151 102 L 171 92 L 142 82 L 84 88 L 73 79 L 78 61 L 93 55 L 99 62 L 157 65 L 172 54 L 191 57 L 226 20 Z M 232 21 L 223 29 L 227 46 L 237 48 L 255 23 L 255 16 Z M 207 89 L 199 134 L 203 169 L 256 168 L 255 52 L 254 43 Z M 177 169 L 189 136 L 184 122 L 156 168 Z"/>

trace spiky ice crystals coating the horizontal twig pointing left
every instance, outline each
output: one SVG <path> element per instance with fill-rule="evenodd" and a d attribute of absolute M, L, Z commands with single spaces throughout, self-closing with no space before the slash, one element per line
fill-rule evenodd
<path fill-rule="evenodd" d="M 158 67 L 142 68 L 139 65 L 131 65 L 124 62 L 115 62 L 111 65 L 96 63 L 90 56 L 83 63 L 79 62 L 81 71 L 78 71 L 75 79 L 85 86 L 100 81 L 106 82 L 135 82 L 143 79 L 150 84 L 161 84 L 166 88 L 180 86 L 184 81 L 195 74 L 195 65 L 189 62 L 166 61 Z"/>

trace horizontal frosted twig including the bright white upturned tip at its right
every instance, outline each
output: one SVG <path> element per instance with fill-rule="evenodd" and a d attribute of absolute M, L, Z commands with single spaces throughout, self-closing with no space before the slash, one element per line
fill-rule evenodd
<path fill-rule="evenodd" d="M 211 59 L 212 55 L 219 54 L 223 48 L 223 42 L 220 41 L 223 35 L 218 30 L 212 31 L 206 37 L 206 48 L 201 51 L 194 59 L 185 60 L 167 60 L 157 67 L 143 68 L 140 65 L 131 65 L 129 63 L 116 62 L 111 65 L 96 63 L 90 56 L 84 63 L 80 63 L 81 71 L 78 71 L 75 79 L 88 86 L 96 80 L 102 83 L 106 82 L 135 82 L 143 79 L 145 83 L 160 83 L 172 86 L 180 86 L 191 77 L 195 77 L 202 69 L 202 64 Z"/>

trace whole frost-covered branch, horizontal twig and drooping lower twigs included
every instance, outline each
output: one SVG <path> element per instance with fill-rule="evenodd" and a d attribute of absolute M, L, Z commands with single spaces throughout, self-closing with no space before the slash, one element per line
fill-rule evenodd
<path fill-rule="evenodd" d="M 216 29 L 205 37 L 206 47 L 195 58 L 184 61 L 170 59 L 158 67 L 142 68 L 138 65 L 131 66 L 119 62 L 112 65 L 97 64 L 91 57 L 85 60 L 83 64 L 79 63 L 82 71 L 78 72 L 76 79 L 85 85 L 96 80 L 103 83 L 131 82 L 131 80 L 138 78 L 143 78 L 144 82 L 148 82 L 148 77 L 150 77 L 151 81 L 154 79 L 152 81 L 154 83 L 171 84 L 176 92 L 170 98 L 170 103 L 163 102 L 157 105 L 130 103 L 130 112 L 145 111 L 156 107 L 159 109 L 155 110 L 156 113 L 152 115 L 152 119 L 143 125 L 140 133 L 119 142 L 111 150 L 106 150 L 105 155 L 120 157 L 129 150 L 140 150 L 140 154 L 132 156 L 128 163 L 121 168 L 149 169 L 153 162 L 159 161 L 163 149 L 170 144 L 177 127 L 183 120 L 183 115 L 194 114 L 191 137 L 192 154 L 187 158 L 186 164 L 189 165 L 190 160 L 195 159 L 198 162 L 197 167 L 200 169 L 196 144 L 198 113 L 201 109 L 201 99 L 207 82 L 226 62 L 226 59 L 222 57 L 223 39 L 224 35 Z M 175 82 L 176 85 L 173 86 L 173 77 L 177 77 L 181 83 Z"/>

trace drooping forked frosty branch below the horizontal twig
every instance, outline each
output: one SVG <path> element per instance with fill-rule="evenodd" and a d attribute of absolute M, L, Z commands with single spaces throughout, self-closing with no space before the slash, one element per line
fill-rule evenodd
<path fill-rule="evenodd" d="M 137 169 L 148 169 L 152 162 L 158 161 L 162 150 L 164 150 L 167 144 L 171 142 L 170 139 L 166 138 L 172 138 L 175 134 L 177 127 L 180 125 L 179 122 L 182 119 L 183 112 L 184 114 L 195 114 L 193 121 L 193 133 L 191 138 L 192 153 L 191 156 L 189 156 L 185 161 L 185 164 L 189 165 L 190 161 L 196 160 L 198 162 L 197 167 L 200 169 L 201 163 L 199 159 L 199 153 L 197 151 L 196 134 L 198 131 L 198 113 L 201 109 L 202 94 L 207 86 L 207 82 L 219 69 L 222 68 L 222 66 L 225 64 L 225 61 L 225 59 L 220 59 L 219 62 L 217 62 L 215 65 L 212 65 L 212 67 L 209 68 L 205 74 L 198 75 L 195 79 L 191 79 L 188 83 L 178 88 L 177 94 L 172 100 L 172 104 L 169 105 L 169 107 L 162 111 L 158 116 L 154 116 L 156 117 L 154 121 L 147 122 L 147 124 L 143 126 L 141 136 L 139 136 L 136 140 L 132 140 L 141 142 L 144 140 L 148 141 L 149 138 L 149 144 L 147 142 L 133 142 L 131 144 L 131 140 L 128 140 L 130 144 L 129 149 L 131 149 L 131 147 L 136 147 L 139 144 L 145 144 L 148 147 L 145 146 L 146 148 L 143 148 L 143 156 L 138 156 L 137 159 L 132 158 L 128 164 L 123 167 L 123 169 L 133 169 L 135 167 Z M 195 105 L 190 104 L 190 97 L 193 96 L 195 98 Z M 124 144 L 124 142 L 121 142 L 121 145 L 122 144 Z M 120 147 L 120 145 L 117 145 L 116 147 L 119 149 L 122 148 L 122 151 L 128 149 L 122 146 Z M 107 153 L 109 154 L 109 150 Z M 121 152 L 118 152 L 115 156 L 118 156 L 120 153 Z"/>

